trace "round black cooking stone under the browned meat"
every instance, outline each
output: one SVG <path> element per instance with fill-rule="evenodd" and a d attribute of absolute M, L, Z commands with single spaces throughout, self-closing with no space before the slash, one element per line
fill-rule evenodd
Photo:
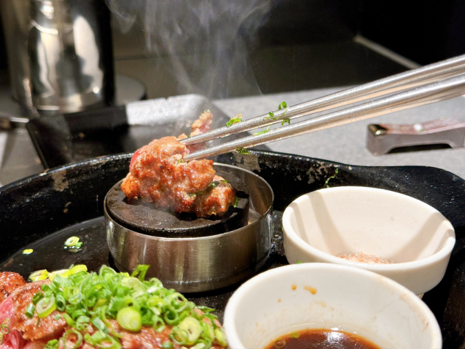
<path fill-rule="evenodd" d="M 142 200 L 128 201 L 121 181 L 116 183 L 107 194 L 105 206 L 107 212 L 125 228 L 158 237 L 205 237 L 229 232 L 246 226 L 249 219 L 249 189 L 235 175 L 216 171 L 236 190 L 238 206 L 230 207 L 221 217 L 197 218 L 194 213 L 178 213 L 156 208 L 154 203 Z"/>

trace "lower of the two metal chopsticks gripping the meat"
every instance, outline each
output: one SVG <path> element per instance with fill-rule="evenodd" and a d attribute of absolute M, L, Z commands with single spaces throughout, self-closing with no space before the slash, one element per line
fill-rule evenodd
<path fill-rule="evenodd" d="M 205 159 L 215 155 L 231 152 L 237 148 L 249 148 L 263 143 L 296 137 L 317 130 L 324 130 L 345 123 L 369 119 L 379 115 L 396 112 L 415 106 L 451 99 L 465 94 L 465 74 L 457 75 L 442 81 L 429 83 L 425 86 L 406 90 L 389 97 L 369 101 L 358 106 L 315 117 L 293 125 L 276 128 L 265 134 L 249 136 L 228 143 L 192 152 L 185 160 Z"/>

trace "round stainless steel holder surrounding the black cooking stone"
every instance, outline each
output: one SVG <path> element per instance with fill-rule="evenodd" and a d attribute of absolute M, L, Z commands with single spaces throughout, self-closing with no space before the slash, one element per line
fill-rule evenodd
<path fill-rule="evenodd" d="M 210 237 L 153 237 L 116 223 L 105 207 L 108 246 L 120 270 L 149 264 L 147 276 L 157 277 L 165 287 L 203 292 L 246 279 L 265 264 L 271 249 L 273 190 L 254 172 L 220 163 L 214 167 L 231 172 L 249 187 L 249 224 Z"/>

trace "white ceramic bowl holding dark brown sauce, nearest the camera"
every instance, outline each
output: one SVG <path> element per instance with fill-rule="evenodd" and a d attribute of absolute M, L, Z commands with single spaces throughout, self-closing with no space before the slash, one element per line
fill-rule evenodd
<path fill-rule="evenodd" d="M 307 328 L 355 332 L 383 349 L 442 348 L 433 313 L 413 292 L 329 263 L 284 266 L 250 279 L 229 299 L 224 326 L 230 349 L 263 349 Z"/>

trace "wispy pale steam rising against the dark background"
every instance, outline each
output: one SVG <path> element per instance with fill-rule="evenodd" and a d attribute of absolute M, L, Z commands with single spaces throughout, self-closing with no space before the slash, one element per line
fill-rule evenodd
<path fill-rule="evenodd" d="M 168 57 L 178 93 L 260 92 L 247 57 L 271 0 L 107 0 L 119 29 L 143 23 L 145 46 Z"/>

